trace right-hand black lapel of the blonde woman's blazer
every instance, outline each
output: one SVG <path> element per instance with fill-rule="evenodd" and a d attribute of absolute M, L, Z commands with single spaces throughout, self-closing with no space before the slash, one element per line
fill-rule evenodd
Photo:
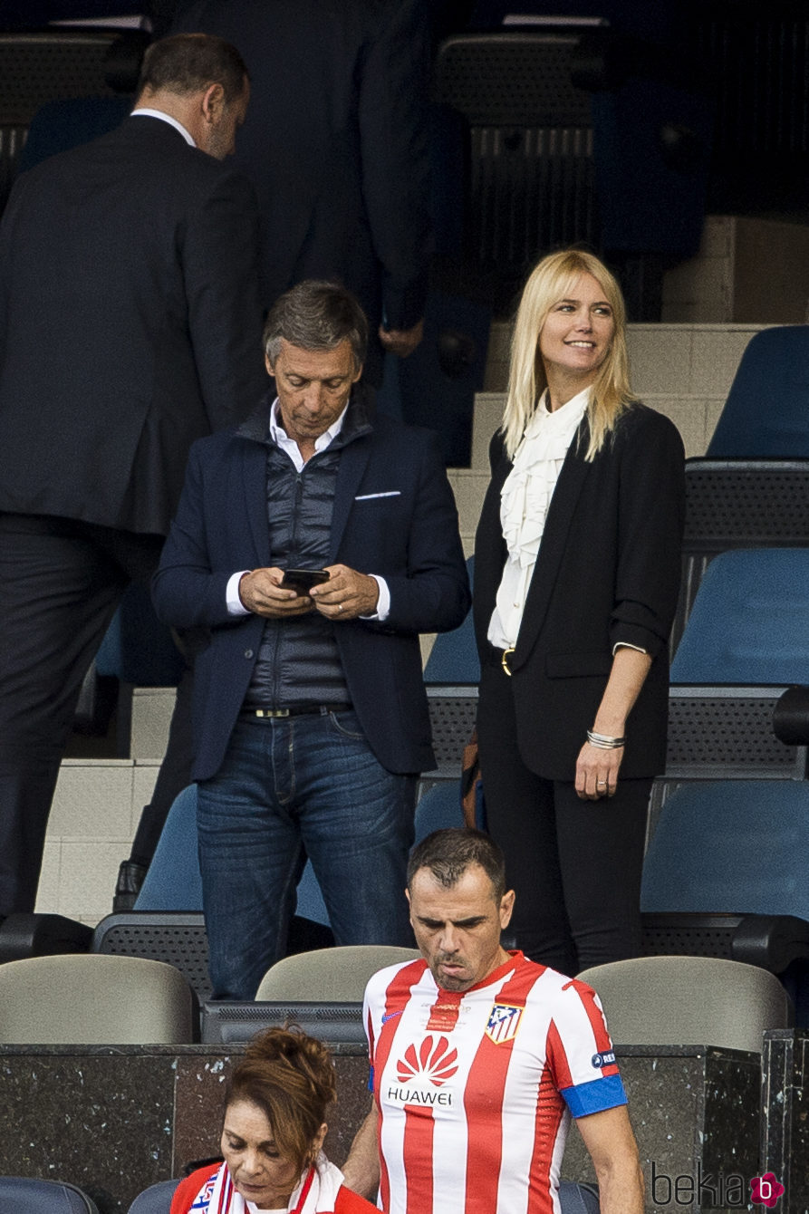
<path fill-rule="evenodd" d="M 573 511 L 582 492 L 588 472 L 588 464 L 578 452 L 587 450 L 590 441 L 590 429 L 584 418 L 567 449 L 559 480 L 550 499 L 545 528 L 539 543 L 537 563 L 533 567 L 531 585 L 522 612 L 522 623 L 517 635 L 516 648 L 510 665 L 515 670 L 522 665 L 533 648 L 548 612 L 550 595 L 556 584 Z"/>

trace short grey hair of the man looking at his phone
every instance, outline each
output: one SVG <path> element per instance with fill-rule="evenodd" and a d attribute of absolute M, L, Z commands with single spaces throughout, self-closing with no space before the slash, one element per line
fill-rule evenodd
<path fill-rule="evenodd" d="M 351 344 L 355 370 L 362 367 L 368 346 L 366 313 L 339 283 L 307 279 L 284 291 L 270 310 L 264 327 L 264 350 L 271 363 L 281 353 L 281 342 L 300 350 L 334 350 Z"/>

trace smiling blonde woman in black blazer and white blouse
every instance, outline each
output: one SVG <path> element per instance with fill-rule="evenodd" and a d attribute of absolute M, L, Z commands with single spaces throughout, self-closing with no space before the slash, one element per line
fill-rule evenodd
<path fill-rule="evenodd" d="M 640 943 L 666 758 L 683 443 L 629 391 L 621 289 L 551 254 L 516 317 L 475 546 L 480 760 L 516 943 L 576 974 Z"/>

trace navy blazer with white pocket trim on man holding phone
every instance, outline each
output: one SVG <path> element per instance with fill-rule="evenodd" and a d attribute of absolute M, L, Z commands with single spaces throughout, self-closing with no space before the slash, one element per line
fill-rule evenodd
<path fill-rule="evenodd" d="M 211 630 L 194 666 L 194 779 L 219 770 L 259 653 L 264 618 L 228 615 L 225 595 L 236 571 L 273 563 L 266 476 L 266 446 L 238 430 L 194 443 L 154 575 L 166 624 Z M 338 562 L 380 574 L 390 589 L 384 623 L 334 626 L 366 737 L 389 771 L 429 770 L 435 760 L 418 637 L 456 628 L 469 609 L 458 515 L 431 431 L 379 415 L 343 449 L 328 563 Z"/>

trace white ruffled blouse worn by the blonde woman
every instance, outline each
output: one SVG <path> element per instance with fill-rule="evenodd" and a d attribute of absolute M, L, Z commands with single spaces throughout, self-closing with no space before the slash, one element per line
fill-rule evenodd
<path fill-rule="evenodd" d="M 498 649 L 516 645 L 550 499 L 589 398 L 585 387 L 551 413 L 548 391 L 543 392 L 500 492 L 500 526 L 509 555 L 488 625 L 488 640 Z"/>

